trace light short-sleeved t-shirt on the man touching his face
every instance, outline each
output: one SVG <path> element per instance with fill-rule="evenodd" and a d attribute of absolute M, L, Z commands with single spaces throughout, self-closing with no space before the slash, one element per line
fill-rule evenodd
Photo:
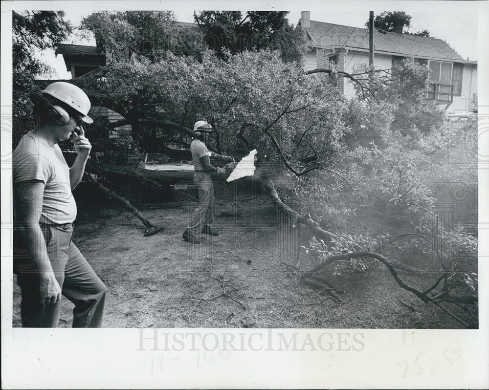
<path fill-rule="evenodd" d="M 49 146 L 37 135 L 25 134 L 13 153 L 13 182 L 40 180 L 44 183 L 40 222 L 63 224 L 76 218 L 76 203 L 71 193 L 69 170 L 58 144 Z M 25 191 L 25 190 L 24 190 Z M 20 196 L 34 196 L 22 192 Z"/>

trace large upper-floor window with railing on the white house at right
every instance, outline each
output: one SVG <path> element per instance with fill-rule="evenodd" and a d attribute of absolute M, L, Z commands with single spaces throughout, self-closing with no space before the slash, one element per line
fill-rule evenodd
<path fill-rule="evenodd" d="M 431 70 L 431 84 L 429 85 L 428 92 L 426 93 L 426 99 L 451 102 L 453 100 L 454 84 L 452 84 L 452 76 L 454 73 L 453 68 L 455 64 L 451 62 L 433 60 L 424 60 L 421 61 L 421 64 L 428 66 Z M 461 77 L 459 78 L 459 80 L 459 88 L 460 90 L 462 90 Z"/>

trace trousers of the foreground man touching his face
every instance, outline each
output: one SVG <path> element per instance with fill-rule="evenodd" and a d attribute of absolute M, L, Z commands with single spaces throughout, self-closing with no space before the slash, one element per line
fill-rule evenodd
<path fill-rule="evenodd" d="M 73 327 L 100 327 L 106 287 L 71 241 L 73 224 L 41 225 L 47 254 L 62 294 L 75 304 Z M 14 270 L 22 291 L 21 317 L 24 327 L 58 327 L 61 301 L 41 305 L 39 273 L 22 250 L 19 233 L 14 233 L 17 255 Z M 19 252 L 20 250 L 20 252 Z"/>

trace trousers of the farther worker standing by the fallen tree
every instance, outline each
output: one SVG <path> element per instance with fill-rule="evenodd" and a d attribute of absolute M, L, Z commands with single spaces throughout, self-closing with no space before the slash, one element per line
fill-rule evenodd
<path fill-rule="evenodd" d="M 190 215 L 187 232 L 199 236 L 204 225 L 209 225 L 214 217 L 216 199 L 211 174 L 207 172 L 195 172 L 194 183 L 199 191 L 199 206 Z"/>

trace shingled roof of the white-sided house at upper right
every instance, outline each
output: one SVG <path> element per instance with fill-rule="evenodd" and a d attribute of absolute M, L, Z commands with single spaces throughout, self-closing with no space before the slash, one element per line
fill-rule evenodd
<path fill-rule="evenodd" d="M 300 24 L 300 21 L 299 21 Z M 366 49 L 369 48 L 368 29 L 339 24 L 311 21 L 308 45 L 320 48 Z M 376 53 L 405 55 L 408 57 L 464 61 L 445 41 L 417 35 L 374 31 Z"/>

